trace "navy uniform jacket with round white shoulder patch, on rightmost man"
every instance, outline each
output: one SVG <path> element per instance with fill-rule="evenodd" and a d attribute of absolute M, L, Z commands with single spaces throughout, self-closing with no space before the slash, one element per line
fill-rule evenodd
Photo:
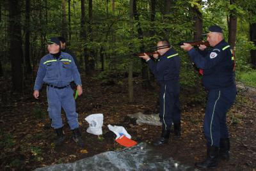
<path fill-rule="evenodd" d="M 211 50 L 204 51 L 198 52 L 192 48 L 188 54 L 196 66 L 204 70 L 202 81 L 205 89 L 221 89 L 235 85 L 230 45 L 222 40 Z"/>

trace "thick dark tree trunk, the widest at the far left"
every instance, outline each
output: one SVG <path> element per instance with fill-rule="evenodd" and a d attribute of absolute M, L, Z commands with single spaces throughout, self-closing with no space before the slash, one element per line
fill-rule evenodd
<path fill-rule="evenodd" d="M 9 32 L 10 32 L 10 56 L 12 65 L 13 90 L 22 93 L 23 69 L 22 69 L 22 37 L 20 25 L 20 1 L 9 2 Z"/>

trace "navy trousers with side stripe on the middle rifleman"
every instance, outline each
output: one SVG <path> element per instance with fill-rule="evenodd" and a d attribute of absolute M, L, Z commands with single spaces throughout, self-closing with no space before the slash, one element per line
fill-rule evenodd
<path fill-rule="evenodd" d="M 159 117 L 165 130 L 172 127 L 172 123 L 180 122 L 180 85 L 179 81 L 164 81 L 160 83 L 160 112 Z"/>

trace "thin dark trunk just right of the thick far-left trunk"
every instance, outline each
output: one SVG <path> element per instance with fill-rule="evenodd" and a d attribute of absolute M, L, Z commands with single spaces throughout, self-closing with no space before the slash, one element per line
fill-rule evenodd
<path fill-rule="evenodd" d="M 26 73 L 31 74 L 32 68 L 30 63 L 30 0 L 26 0 L 25 62 Z"/>

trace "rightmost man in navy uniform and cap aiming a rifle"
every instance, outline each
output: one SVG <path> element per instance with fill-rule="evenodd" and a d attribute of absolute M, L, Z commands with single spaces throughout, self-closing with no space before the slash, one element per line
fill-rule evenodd
<path fill-rule="evenodd" d="M 188 51 L 191 60 L 203 70 L 202 81 L 208 91 L 204 119 L 207 158 L 195 164 L 199 168 L 216 167 L 219 157 L 229 159 L 226 114 L 236 99 L 234 57 L 230 45 L 223 38 L 221 27 L 209 27 L 207 41 L 211 50 L 206 50 L 205 45 L 200 45 L 199 52 L 188 43 L 180 46 Z"/>

